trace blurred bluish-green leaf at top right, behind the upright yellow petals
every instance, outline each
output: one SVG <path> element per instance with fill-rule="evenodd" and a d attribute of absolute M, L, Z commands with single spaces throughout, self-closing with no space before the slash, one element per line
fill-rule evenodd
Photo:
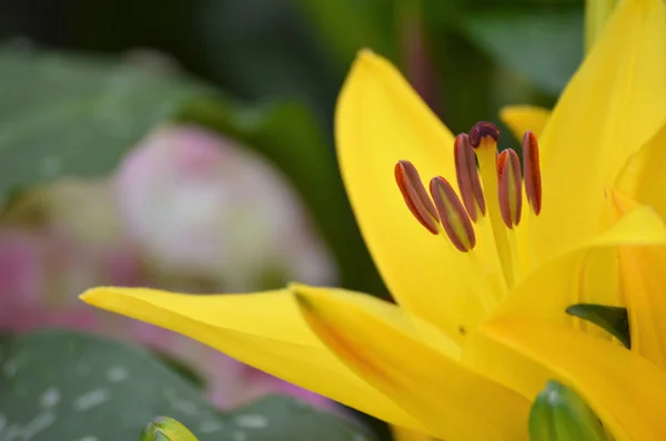
<path fill-rule="evenodd" d="M 496 9 L 474 12 L 461 31 L 493 60 L 544 92 L 558 94 L 583 60 L 581 10 Z"/>

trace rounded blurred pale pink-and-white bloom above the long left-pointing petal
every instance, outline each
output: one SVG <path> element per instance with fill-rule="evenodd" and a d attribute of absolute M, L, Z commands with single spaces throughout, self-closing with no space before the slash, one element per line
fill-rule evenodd
<path fill-rule="evenodd" d="M 226 291 L 292 279 L 330 284 L 334 266 L 284 178 L 202 129 L 168 126 L 121 164 L 121 214 L 150 261 Z M 278 278 L 275 281 L 274 278 Z"/>

